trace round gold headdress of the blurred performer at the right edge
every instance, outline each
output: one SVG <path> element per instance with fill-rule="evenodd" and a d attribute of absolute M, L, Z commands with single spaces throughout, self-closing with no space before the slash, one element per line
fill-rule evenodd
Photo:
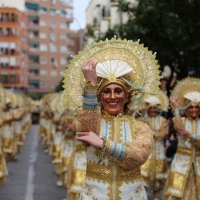
<path fill-rule="evenodd" d="M 184 109 L 190 102 L 200 102 L 200 79 L 186 78 L 179 81 L 171 93 L 172 97 L 177 97 L 178 105 L 172 108 Z"/>

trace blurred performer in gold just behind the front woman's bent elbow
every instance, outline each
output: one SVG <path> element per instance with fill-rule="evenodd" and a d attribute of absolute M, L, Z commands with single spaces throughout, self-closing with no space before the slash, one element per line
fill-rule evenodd
<path fill-rule="evenodd" d="M 153 131 L 153 151 L 144 165 L 141 173 L 145 186 L 153 189 L 153 199 L 158 199 L 158 192 L 164 187 L 167 177 L 167 160 L 165 155 L 164 139 L 168 134 L 168 122 L 159 115 L 161 111 L 167 112 L 169 99 L 163 91 L 157 95 L 145 95 L 143 108 L 146 108 L 142 121 L 147 122 Z"/>

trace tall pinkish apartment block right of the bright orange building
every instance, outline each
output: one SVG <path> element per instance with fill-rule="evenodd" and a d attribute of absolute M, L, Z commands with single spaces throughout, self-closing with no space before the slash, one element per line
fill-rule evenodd
<path fill-rule="evenodd" d="M 73 0 L 25 0 L 29 19 L 29 93 L 55 90 L 71 55 Z"/>

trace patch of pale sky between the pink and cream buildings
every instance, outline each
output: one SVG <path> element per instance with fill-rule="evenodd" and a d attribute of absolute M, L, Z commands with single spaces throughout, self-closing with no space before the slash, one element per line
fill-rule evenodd
<path fill-rule="evenodd" d="M 71 24 L 72 30 L 85 28 L 85 10 L 90 0 L 74 0 L 74 22 Z M 80 25 L 79 25 L 80 24 Z"/>

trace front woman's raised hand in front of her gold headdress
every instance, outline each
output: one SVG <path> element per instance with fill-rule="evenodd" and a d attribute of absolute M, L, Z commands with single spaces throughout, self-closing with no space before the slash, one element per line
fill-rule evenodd
<path fill-rule="evenodd" d="M 92 85 L 97 83 L 97 73 L 96 73 L 97 63 L 92 60 L 88 60 L 83 65 L 82 71 L 85 76 L 86 82 L 91 82 Z"/>

